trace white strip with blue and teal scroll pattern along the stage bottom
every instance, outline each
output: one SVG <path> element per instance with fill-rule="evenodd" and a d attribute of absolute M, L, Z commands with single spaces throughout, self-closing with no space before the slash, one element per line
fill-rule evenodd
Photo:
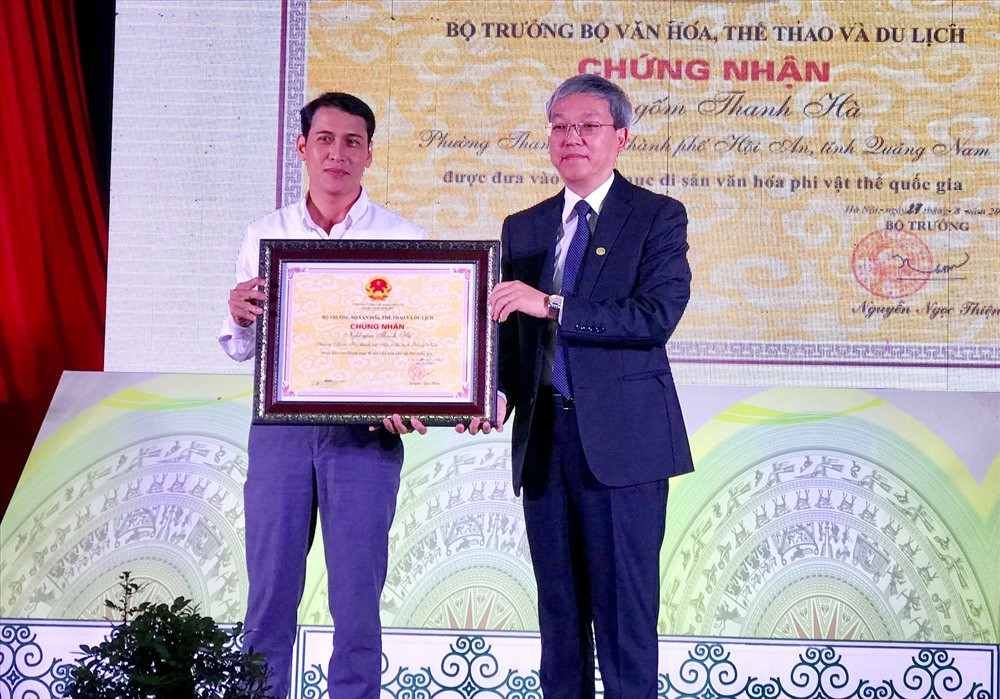
<path fill-rule="evenodd" d="M 81 643 L 99 622 L 6 620 L 0 628 L 0 696 L 60 697 Z M 304 626 L 295 647 L 292 699 L 322 699 L 333 630 Z M 538 637 L 515 632 L 384 634 L 383 699 L 541 699 Z M 998 650 L 988 645 L 661 638 L 661 699 L 995 699 Z"/>

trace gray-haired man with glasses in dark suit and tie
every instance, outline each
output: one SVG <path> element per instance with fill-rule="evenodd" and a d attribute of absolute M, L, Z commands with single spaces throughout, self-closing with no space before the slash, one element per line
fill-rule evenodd
<path fill-rule="evenodd" d="M 594 696 L 596 635 L 604 696 L 652 699 L 667 479 L 692 469 L 664 349 L 690 295 L 687 214 L 614 169 L 632 120 L 616 85 L 572 77 L 547 113 L 566 188 L 504 222 L 491 307 L 542 689 Z"/>

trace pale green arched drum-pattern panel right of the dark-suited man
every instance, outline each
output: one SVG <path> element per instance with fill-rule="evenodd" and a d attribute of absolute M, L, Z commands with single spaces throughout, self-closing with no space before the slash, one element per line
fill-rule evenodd
<path fill-rule="evenodd" d="M 995 643 L 997 397 L 907 412 L 939 398 L 776 389 L 717 413 L 672 487 L 661 630 Z M 976 407 L 982 486 L 948 445 Z"/>

